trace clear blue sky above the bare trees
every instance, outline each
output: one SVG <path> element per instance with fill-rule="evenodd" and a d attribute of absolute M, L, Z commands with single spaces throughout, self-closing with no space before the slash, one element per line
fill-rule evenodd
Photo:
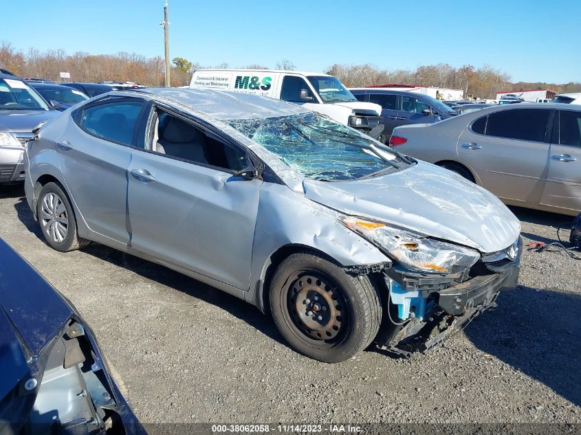
<path fill-rule="evenodd" d="M 2 15 L 0 41 L 23 51 L 164 54 L 163 0 L 3 1 Z M 169 0 L 169 15 L 171 57 L 204 66 L 488 63 L 514 81 L 581 81 L 579 0 Z"/>

